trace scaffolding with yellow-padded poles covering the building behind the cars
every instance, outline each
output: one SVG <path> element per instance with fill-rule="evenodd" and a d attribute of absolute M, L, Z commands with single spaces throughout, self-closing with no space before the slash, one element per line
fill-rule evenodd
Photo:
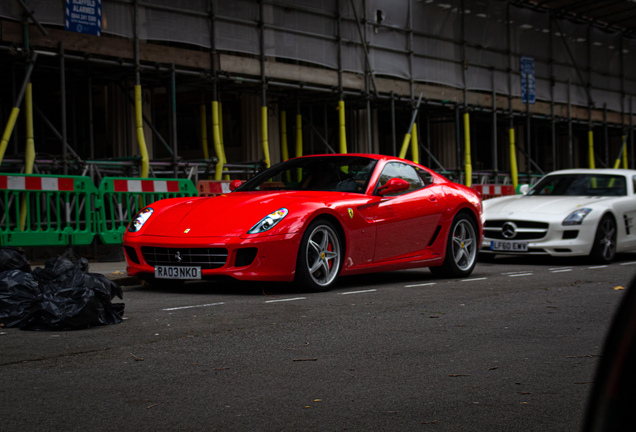
<path fill-rule="evenodd" d="M 57 2 L 0 4 L 0 122 L 32 82 L 36 172 L 246 177 L 299 154 L 397 155 L 411 124 L 421 162 L 468 184 L 623 149 L 634 166 L 636 39 L 619 28 L 503 0 L 94 3 L 99 36 Z M 28 165 L 15 125 L 5 172 Z"/>

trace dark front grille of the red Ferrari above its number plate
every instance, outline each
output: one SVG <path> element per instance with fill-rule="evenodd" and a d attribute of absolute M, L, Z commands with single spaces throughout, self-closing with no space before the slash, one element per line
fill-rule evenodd
<path fill-rule="evenodd" d="M 227 261 L 225 248 L 163 248 L 143 246 L 141 253 L 151 266 L 197 266 L 205 269 L 220 268 Z"/>

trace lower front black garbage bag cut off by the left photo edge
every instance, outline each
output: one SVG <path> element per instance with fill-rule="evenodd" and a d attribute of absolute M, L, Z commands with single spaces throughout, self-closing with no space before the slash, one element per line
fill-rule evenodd
<path fill-rule="evenodd" d="M 0 324 L 4 327 L 19 327 L 28 322 L 40 309 L 41 300 L 33 274 L 22 270 L 0 273 Z"/>

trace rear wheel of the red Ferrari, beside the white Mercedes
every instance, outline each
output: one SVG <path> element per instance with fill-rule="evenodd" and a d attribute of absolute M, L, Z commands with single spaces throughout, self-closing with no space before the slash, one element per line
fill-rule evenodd
<path fill-rule="evenodd" d="M 453 219 L 448 233 L 446 257 L 439 267 L 430 267 L 435 276 L 461 278 L 469 276 L 477 264 L 479 236 L 475 222 L 460 213 Z"/>

